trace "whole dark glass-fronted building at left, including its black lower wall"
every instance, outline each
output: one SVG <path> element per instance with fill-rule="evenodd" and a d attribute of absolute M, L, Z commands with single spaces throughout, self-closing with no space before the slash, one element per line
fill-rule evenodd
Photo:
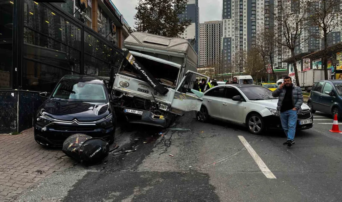
<path fill-rule="evenodd" d="M 92 10 L 82 23 L 75 1 L 0 0 L 0 133 L 32 127 L 39 92 L 65 75 L 103 77 L 111 89 L 123 55 L 108 40 L 110 20 L 101 13 L 104 32 L 95 32 Z"/>

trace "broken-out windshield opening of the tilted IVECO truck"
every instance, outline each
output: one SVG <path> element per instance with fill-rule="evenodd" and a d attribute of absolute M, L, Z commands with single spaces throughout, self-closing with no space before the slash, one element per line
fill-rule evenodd
<path fill-rule="evenodd" d="M 157 62 L 155 60 L 147 59 L 134 55 L 135 59 L 139 61 L 152 76 L 157 79 L 161 84 L 165 84 L 169 87 L 176 87 L 179 68 L 165 63 Z M 119 73 L 124 75 L 142 78 L 136 69 L 128 62 L 124 60 L 121 65 Z"/>

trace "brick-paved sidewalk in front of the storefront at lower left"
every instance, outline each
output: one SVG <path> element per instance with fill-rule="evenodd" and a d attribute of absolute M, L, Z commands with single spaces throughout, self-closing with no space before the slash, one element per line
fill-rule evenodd
<path fill-rule="evenodd" d="M 53 172 L 74 166 L 60 149 L 47 149 L 34 140 L 33 128 L 18 135 L 0 135 L 0 202 L 18 194 Z"/>

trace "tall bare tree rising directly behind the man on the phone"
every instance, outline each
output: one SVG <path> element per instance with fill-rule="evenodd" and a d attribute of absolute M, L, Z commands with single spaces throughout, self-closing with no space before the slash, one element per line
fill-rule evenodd
<path fill-rule="evenodd" d="M 287 47 L 291 52 L 297 86 L 299 86 L 299 80 L 294 50 L 309 38 L 302 35 L 304 29 L 311 24 L 308 5 L 310 5 L 310 0 L 278 0 L 277 6 L 271 11 L 271 16 L 277 23 L 277 31 L 281 35 L 275 39 L 278 44 Z"/>

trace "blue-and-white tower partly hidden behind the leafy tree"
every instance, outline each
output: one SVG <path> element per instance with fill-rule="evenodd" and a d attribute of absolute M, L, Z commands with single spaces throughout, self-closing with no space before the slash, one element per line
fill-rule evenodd
<path fill-rule="evenodd" d="M 198 8 L 198 0 L 188 0 L 185 11 L 178 16 L 180 21 L 183 19 L 191 19 L 191 24 L 188 26 L 184 33 L 182 34 L 182 38 L 192 41 L 193 48 L 198 52 L 199 45 L 199 8 Z"/>

